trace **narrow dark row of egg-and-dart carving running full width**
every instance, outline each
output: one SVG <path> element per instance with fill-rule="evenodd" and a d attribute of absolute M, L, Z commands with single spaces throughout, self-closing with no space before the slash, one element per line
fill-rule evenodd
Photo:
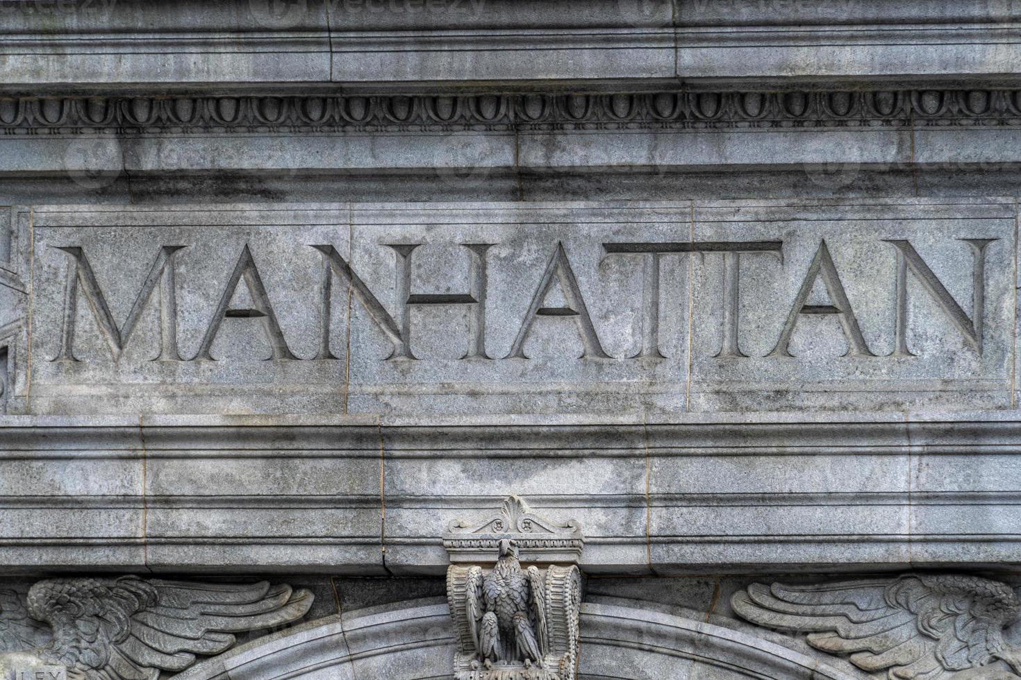
<path fill-rule="evenodd" d="M 1021 125 L 1021 90 L 0 98 L 3 136 Z"/>

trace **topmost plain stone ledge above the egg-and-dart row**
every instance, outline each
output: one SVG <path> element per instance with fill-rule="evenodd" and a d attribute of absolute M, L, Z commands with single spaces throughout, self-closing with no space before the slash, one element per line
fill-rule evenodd
<path fill-rule="evenodd" d="M 5 3 L 7 87 L 1010 74 L 1006 0 Z M 145 45 L 146 50 L 138 49 Z M 910 75 L 909 75 L 910 74 Z"/>

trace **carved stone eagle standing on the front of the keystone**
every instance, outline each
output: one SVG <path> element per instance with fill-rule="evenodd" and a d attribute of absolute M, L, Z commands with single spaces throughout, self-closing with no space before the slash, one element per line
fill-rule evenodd
<path fill-rule="evenodd" d="M 542 575 L 522 570 L 514 540 L 499 542 L 500 557 L 485 577 L 481 567 L 468 573 L 468 623 L 472 641 L 486 668 L 522 663 L 542 665 L 546 653 L 546 615 Z"/>

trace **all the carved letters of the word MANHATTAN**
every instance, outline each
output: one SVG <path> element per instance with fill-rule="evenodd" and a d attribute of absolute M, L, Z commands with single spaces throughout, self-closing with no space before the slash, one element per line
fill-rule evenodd
<path fill-rule="evenodd" d="M 938 304 L 954 326 L 962 333 L 967 345 L 976 353 L 982 352 L 982 319 L 984 315 L 985 295 L 985 258 L 986 249 L 995 239 L 961 239 L 970 247 L 973 265 L 973 299 L 971 313 L 954 299 L 942 281 L 933 273 L 925 260 L 918 254 L 909 241 L 886 240 L 896 254 L 895 266 L 895 309 L 894 313 L 894 349 L 890 356 L 915 356 L 908 346 L 908 277 L 914 276 L 921 287 Z M 366 285 L 364 281 L 352 269 L 351 265 L 337 252 L 333 246 L 312 245 L 322 255 L 322 285 L 320 287 L 320 326 L 319 352 L 313 359 L 336 359 L 330 350 L 330 314 L 331 300 L 334 291 L 334 280 L 339 280 L 368 312 L 373 323 L 389 339 L 393 351 L 387 358 L 389 361 L 416 361 L 412 352 L 411 319 L 412 307 L 424 306 L 468 306 L 468 349 L 463 359 L 493 359 L 486 352 L 486 294 L 487 294 L 487 255 L 492 244 L 461 244 L 468 258 L 469 290 L 458 295 L 424 295 L 410 290 L 411 260 L 417 248 L 422 244 L 388 245 L 395 255 L 395 291 L 396 313 L 390 312 L 380 303 L 379 299 Z M 687 242 L 687 243 L 604 243 L 602 249 L 606 257 L 638 257 L 643 260 L 643 294 L 641 349 L 631 357 L 663 358 L 660 350 L 660 261 L 663 257 L 677 254 L 718 253 L 723 255 L 724 284 L 722 286 L 722 341 L 717 357 L 744 358 L 745 355 L 738 343 L 738 299 L 740 295 L 740 262 L 742 257 L 756 254 L 771 254 L 779 258 L 782 254 L 782 242 L 751 241 L 751 242 Z M 64 292 L 63 314 L 60 330 L 60 344 L 53 361 L 75 362 L 76 319 L 78 317 L 79 298 L 84 297 L 89 303 L 96 322 L 103 333 L 114 361 L 131 341 L 143 312 L 158 299 L 159 306 L 159 337 L 160 352 L 156 360 L 186 361 L 182 358 L 177 339 L 177 291 L 175 285 L 175 262 L 178 254 L 186 246 L 161 246 L 155 260 L 149 269 L 141 290 L 123 325 L 118 325 L 110 313 L 106 296 L 100 289 L 93 272 L 92 265 L 85 249 L 79 246 L 55 247 L 70 258 L 71 266 L 67 269 L 67 279 Z M 829 304 L 809 304 L 813 286 L 821 280 L 829 297 Z M 244 284 L 250 299 L 251 308 L 234 309 L 230 307 L 238 286 Z M 550 291 L 558 286 L 565 304 L 561 307 L 544 306 Z M 830 255 L 825 240 L 819 242 L 815 257 L 805 274 L 800 289 L 794 297 L 790 312 L 782 327 L 779 338 L 767 357 L 790 357 L 789 345 L 798 320 L 805 315 L 831 315 L 838 322 L 840 331 L 847 343 L 849 357 L 876 356 L 867 345 L 858 319 L 833 258 Z M 220 297 L 220 302 L 205 329 L 201 345 L 195 356 L 187 361 L 212 361 L 210 351 L 221 325 L 225 318 L 243 318 L 258 323 L 270 343 L 271 359 L 298 360 L 291 352 L 283 330 L 277 320 L 277 314 L 270 302 L 262 282 L 262 276 L 256 267 L 255 260 L 247 246 L 241 251 L 237 264 L 227 281 Z M 525 345 L 529 338 L 536 319 L 539 317 L 560 317 L 574 322 L 577 334 L 584 351 L 582 357 L 611 359 L 599 341 L 599 334 L 588 308 L 574 269 L 568 259 L 562 243 L 556 244 L 549 257 L 545 270 L 531 298 L 528 312 L 522 319 L 521 326 L 515 337 L 510 351 L 503 359 L 527 359 Z"/>

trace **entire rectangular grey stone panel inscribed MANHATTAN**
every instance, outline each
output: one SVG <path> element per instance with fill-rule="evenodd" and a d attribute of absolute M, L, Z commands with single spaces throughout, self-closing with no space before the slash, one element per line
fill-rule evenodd
<path fill-rule="evenodd" d="M 1010 201 L 36 207 L 9 412 L 1010 408 Z M 31 245 L 31 246 L 30 246 Z"/>

